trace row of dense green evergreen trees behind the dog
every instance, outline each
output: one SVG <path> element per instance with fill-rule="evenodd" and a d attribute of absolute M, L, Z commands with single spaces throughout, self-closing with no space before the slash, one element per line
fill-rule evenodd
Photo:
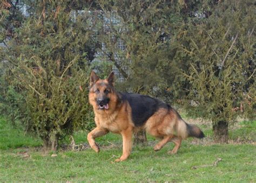
<path fill-rule="evenodd" d="M 4 0 L 0 99 L 56 146 L 91 127 L 91 69 L 115 68 L 119 90 L 181 105 L 226 142 L 238 115 L 255 118 L 254 9 L 251 0 Z"/>

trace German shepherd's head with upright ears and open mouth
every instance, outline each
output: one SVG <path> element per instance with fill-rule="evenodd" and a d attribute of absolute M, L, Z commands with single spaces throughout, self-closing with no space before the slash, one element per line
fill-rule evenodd
<path fill-rule="evenodd" d="M 116 101 L 113 82 L 113 72 L 104 80 L 99 79 L 95 72 L 91 72 L 89 101 L 95 109 L 109 110 L 111 102 Z"/>

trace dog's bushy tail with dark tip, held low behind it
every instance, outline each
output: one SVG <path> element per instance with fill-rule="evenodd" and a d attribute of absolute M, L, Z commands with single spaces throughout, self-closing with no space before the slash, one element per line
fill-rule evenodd
<path fill-rule="evenodd" d="M 179 119 L 177 125 L 177 135 L 183 139 L 187 137 L 204 138 L 203 131 L 198 126 L 193 124 L 187 124 L 183 119 Z"/>

